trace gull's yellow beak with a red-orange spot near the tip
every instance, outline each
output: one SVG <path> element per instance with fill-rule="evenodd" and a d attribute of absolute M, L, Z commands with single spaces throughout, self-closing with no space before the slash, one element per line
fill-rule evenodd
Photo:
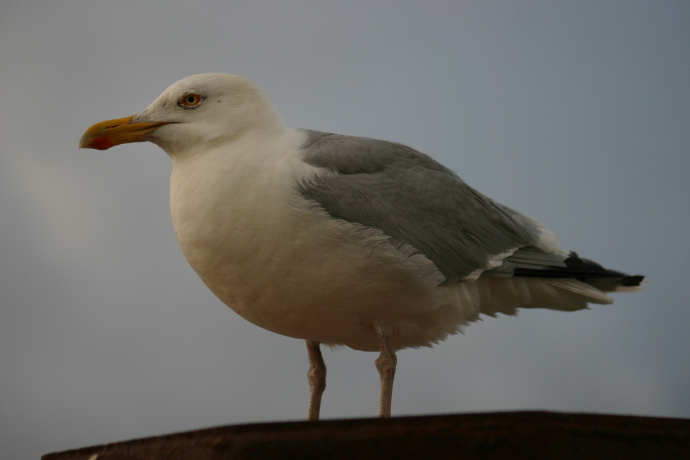
<path fill-rule="evenodd" d="M 134 117 L 135 115 L 132 115 L 96 123 L 81 136 L 79 148 L 106 150 L 121 143 L 148 141 L 146 134 L 170 123 L 170 121 L 131 123 Z"/>

